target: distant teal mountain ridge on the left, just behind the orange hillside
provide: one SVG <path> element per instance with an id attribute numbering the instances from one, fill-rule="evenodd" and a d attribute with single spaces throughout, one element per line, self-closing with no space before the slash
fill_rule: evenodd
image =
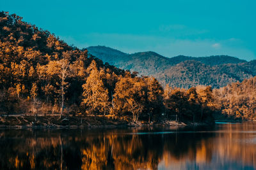
<path id="1" fill-rule="evenodd" d="M 90 46 L 88 53 L 121 69 L 138 71 L 142 75 L 153 75 L 172 66 L 168 58 L 155 52 L 127 54 L 106 46 Z M 149 74 L 148 74 L 149 73 Z"/>

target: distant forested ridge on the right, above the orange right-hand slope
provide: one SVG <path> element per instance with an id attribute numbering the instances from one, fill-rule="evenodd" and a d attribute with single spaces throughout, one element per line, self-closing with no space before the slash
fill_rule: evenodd
<path id="1" fill-rule="evenodd" d="M 195 60 L 186 60 L 154 76 L 161 83 L 169 83 L 172 87 L 189 89 L 196 85 L 211 85 L 214 88 L 225 87 L 229 83 L 241 82 L 255 75 L 255 60 L 218 66 L 205 65 Z"/>

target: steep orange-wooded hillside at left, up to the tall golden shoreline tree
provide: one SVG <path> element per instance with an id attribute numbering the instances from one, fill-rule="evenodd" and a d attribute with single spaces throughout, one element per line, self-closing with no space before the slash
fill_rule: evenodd
<path id="1" fill-rule="evenodd" d="M 112 75 L 104 81 L 110 95 L 114 87 L 109 82 L 124 76 L 124 70 L 89 57 L 87 50 L 68 46 L 22 17 L 0 11 L 1 114 L 63 113 L 70 106 L 77 110 L 92 63 L 101 74 Z"/>

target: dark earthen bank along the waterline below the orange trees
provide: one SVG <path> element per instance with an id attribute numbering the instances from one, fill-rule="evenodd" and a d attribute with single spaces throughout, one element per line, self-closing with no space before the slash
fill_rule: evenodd
<path id="1" fill-rule="evenodd" d="M 111 116 L 65 116 L 60 115 L 8 115 L 0 117 L 1 129 L 77 129 L 77 128 L 115 128 L 115 127 L 142 127 L 142 126 L 186 126 L 203 125 L 193 123 L 162 120 L 148 123 L 143 121 L 131 122 L 127 117 L 116 118 Z"/>

